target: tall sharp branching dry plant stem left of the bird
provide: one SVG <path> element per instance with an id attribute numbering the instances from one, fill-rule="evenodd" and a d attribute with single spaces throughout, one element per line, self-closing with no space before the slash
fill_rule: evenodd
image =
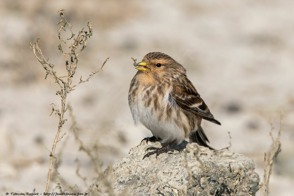
<path id="1" fill-rule="evenodd" d="M 70 93 L 71 91 L 73 91 L 74 87 L 76 87 L 78 84 L 88 81 L 95 73 L 97 73 L 99 71 L 102 71 L 103 70 L 102 68 L 103 68 L 104 64 L 109 59 L 109 57 L 108 57 L 104 61 L 102 67 L 98 71 L 92 72 L 92 74 L 89 75 L 89 77 L 85 81 L 82 81 L 81 78 L 80 78 L 80 82 L 78 82 L 77 84 L 75 84 L 74 86 L 71 87 L 72 77 L 74 76 L 74 74 L 76 72 L 77 64 L 78 64 L 78 61 L 79 61 L 78 56 L 80 55 L 81 51 L 83 51 L 86 48 L 87 40 L 88 40 L 88 38 L 90 38 L 90 36 L 93 35 L 93 30 L 92 30 L 91 21 L 89 21 L 88 24 L 87 24 L 88 31 L 85 31 L 84 29 L 82 29 L 81 31 L 78 32 L 78 34 L 76 36 L 76 34 L 73 33 L 74 30 L 72 28 L 73 27 L 72 24 L 70 24 L 66 20 L 65 14 L 62 11 L 64 11 L 64 9 L 58 11 L 59 15 L 61 16 L 61 20 L 57 24 L 57 25 L 60 25 L 60 29 L 58 29 L 58 38 L 60 40 L 60 43 L 58 45 L 58 49 L 64 56 L 65 67 L 66 67 L 66 70 L 68 72 L 67 76 L 58 76 L 56 74 L 56 71 L 54 71 L 54 65 L 52 63 L 48 62 L 49 58 L 46 59 L 44 57 L 41 49 L 38 46 L 38 42 L 39 42 L 40 38 L 38 38 L 36 40 L 36 42 L 34 42 L 34 43 L 29 41 L 29 46 L 30 46 L 30 48 L 33 48 L 35 57 L 41 63 L 41 65 L 43 66 L 43 68 L 46 71 L 45 79 L 47 78 L 48 75 L 53 76 L 53 78 L 55 80 L 55 83 L 57 83 L 58 86 L 60 87 L 60 90 L 56 91 L 56 95 L 59 95 L 60 98 L 61 98 L 61 108 L 56 109 L 55 105 L 51 104 L 51 107 L 52 107 L 51 114 L 55 111 L 55 114 L 59 117 L 59 124 L 58 124 L 58 130 L 57 130 L 57 133 L 55 135 L 54 142 L 53 142 L 52 150 L 51 150 L 51 153 L 50 153 L 49 172 L 48 172 L 48 178 L 47 178 L 47 184 L 46 184 L 45 192 L 49 191 L 49 185 L 50 185 L 50 180 L 51 180 L 51 172 L 52 172 L 52 165 L 53 165 L 53 161 L 54 161 L 54 157 L 55 157 L 56 143 L 58 141 L 60 141 L 61 138 L 63 138 L 63 136 L 66 134 L 66 133 L 64 133 L 59 138 L 61 128 L 62 128 L 63 124 L 67 120 L 67 119 L 64 119 L 64 113 L 67 110 L 67 108 L 66 108 L 67 94 Z M 63 40 L 60 33 L 61 33 L 61 30 L 66 31 L 66 29 L 65 29 L 66 26 L 69 26 L 69 30 L 71 31 L 71 37 L 67 38 L 67 40 L 73 41 L 73 43 L 71 43 L 71 46 L 69 46 L 70 52 L 65 52 L 64 49 L 62 48 L 62 44 L 66 43 L 66 42 Z"/>

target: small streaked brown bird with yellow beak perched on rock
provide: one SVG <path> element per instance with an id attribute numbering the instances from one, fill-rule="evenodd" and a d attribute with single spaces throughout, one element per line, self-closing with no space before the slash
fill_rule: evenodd
<path id="1" fill-rule="evenodd" d="M 186 69 L 170 56 L 161 52 L 146 54 L 137 63 L 138 72 L 131 81 L 128 104 L 135 124 L 142 123 L 151 131 L 162 148 L 154 150 L 145 157 L 174 151 L 169 148 L 173 143 L 181 143 L 189 138 L 192 142 L 211 148 L 203 129 L 201 120 L 219 124 L 209 111 L 196 88 L 186 76 Z M 142 141 L 143 141 L 142 140 Z M 213 149 L 213 148 L 211 148 Z"/>

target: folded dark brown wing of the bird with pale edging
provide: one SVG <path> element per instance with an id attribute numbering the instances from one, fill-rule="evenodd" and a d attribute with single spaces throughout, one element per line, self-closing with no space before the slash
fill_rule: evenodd
<path id="1" fill-rule="evenodd" d="M 214 119 L 207 105 L 187 77 L 185 77 L 185 80 L 173 86 L 171 96 L 184 110 L 189 110 L 196 115 L 202 116 L 206 120 L 220 125 L 220 122 Z"/>

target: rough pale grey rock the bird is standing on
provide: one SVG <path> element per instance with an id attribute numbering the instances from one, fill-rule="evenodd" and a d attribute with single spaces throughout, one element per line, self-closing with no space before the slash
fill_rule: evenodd
<path id="1" fill-rule="evenodd" d="M 181 153 L 142 160 L 151 146 L 161 144 L 144 141 L 128 157 L 108 165 L 87 190 L 89 195 L 255 195 L 260 187 L 253 160 L 244 155 L 184 141 L 176 147 Z"/>

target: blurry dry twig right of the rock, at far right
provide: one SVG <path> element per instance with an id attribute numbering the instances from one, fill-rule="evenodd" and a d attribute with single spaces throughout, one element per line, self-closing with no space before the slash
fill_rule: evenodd
<path id="1" fill-rule="evenodd" d="M 268 156 L 267 153 L 264 153 L 264 161 L 263 161 L 263 170 L 264 170 L 264 179 L 263 179 L 263 185 L 261 187 L 260 195 L 268 196 L 269 195 L 269 181 L 270 181 L 270 175 L 273 172 L 273 164 L 275 163 L 275 160 L 278 156 L 278 154 L 281 151 L 281 130 L 282 130 L 282 122 L 283 120 L 283 113 L 280 115 L 280 126 L 278 128 L 278 137 L 274 138 L 273 136 L 273 124 L 270 122 L 271 130 L 270 130 L 270 137 L 272 139 L 272 145 L 271 145 L 271 151 L 270 155 Z"/>

